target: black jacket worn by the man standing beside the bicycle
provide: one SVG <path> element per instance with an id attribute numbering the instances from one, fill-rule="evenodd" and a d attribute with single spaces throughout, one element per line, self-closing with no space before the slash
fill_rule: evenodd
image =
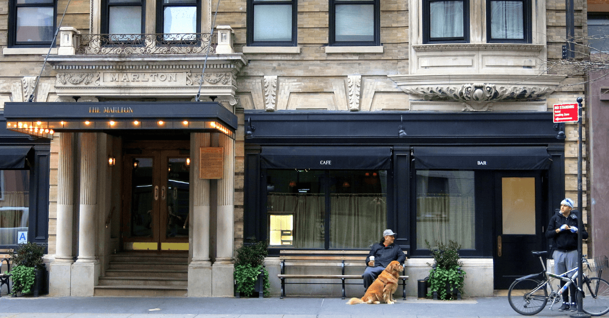
<path id="1" fill-rule="evenodd" d="M 560 210 L 552 215 L 550 218 L 550 224 L 547 226 L 546 237 L 549 239 L 554 239 L 554 244 L 552 244 L 552 251 L 573 251 L 577 249 L 577 233 L 572 233 L 570 230 L 563 230 L 559 233 L 556 233 L 556 229 L 561 227 L 563 224 L 567 224 L 569 227 L 574 226 L 577 227 L 577 210 L 571 210 L 571 214 L 565 218 L 563 213 L 560 213 Z M 586 229 L 577 230 L 582 231 L 582 238 L 586 240 L 588 238 L 588 232 Z"/>

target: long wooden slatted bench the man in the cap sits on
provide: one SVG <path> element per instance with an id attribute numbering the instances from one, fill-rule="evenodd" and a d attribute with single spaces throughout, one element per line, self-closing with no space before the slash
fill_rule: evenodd
<path id="1" fill-rule="evenodd" d="M 345 266 L 365 266 L 366 257 L 370 251 L 315 251 L 315 250 L 281 250 L 281 296 L 286 296 L 286 284 L 329 284 L 342 285 L 342 299 L 345 299 L 345 285 L 364 285 L 362 275 L 345 275 Z M 287 266 L 340 266 L 340 275 L 336 274 L 286 274 Z M 362 274 L 364 274 L 362 270 Z M 340 279 L 340 283 L 319 282 L 286 282 L 286 279 Z M 345 283 L 345 280 L 359 279 L 362 283 Z M 402 292 L 406 300 L 406 269 L 400 275 Z"/>

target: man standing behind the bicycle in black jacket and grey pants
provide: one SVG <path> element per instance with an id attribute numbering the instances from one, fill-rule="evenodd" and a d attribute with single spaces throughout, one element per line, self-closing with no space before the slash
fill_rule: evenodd
<path id="1" fill-rule="evenodd" d="M 586 229 L 577 229 L 577 210 L 573 209 L 573 200 L 565 198 L 560 202 L 560 211 L 550 219 L 550 224 L 547 226 L 546 237 L 554 239 L 552 245 L 552 257 L 554 258 L 554 273 L 562 274 L 572 268 L 577 267 L 577 231 L 582 231 L 582 238 L 588 238 Z M 551 252 L 552 252 L 551 251 Z M 565 282 L 560 281 L 560 287 L 565 286 Z M 569 286 L 569 294 L 571 294 L 571 304 L 569 304 L 569 295 L 563 292 L 563 305 L 558 311 L 576 311 L 577 312 L 577 285 Z"/>

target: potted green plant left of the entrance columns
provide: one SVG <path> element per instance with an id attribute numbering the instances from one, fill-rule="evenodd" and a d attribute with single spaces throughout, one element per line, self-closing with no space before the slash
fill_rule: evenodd
<path id="1" fill-rule="evenodd" d="M 32 242 L 19 244 L 18 249 L 15 249 L 13 252 L 15 267 L 10 271 L 13 278 L 13 297 L 16 297 L 17 293 L 33 294 L 34 297 L 38 297 L 46 278 L 43 255 L 44 246 Z"/>

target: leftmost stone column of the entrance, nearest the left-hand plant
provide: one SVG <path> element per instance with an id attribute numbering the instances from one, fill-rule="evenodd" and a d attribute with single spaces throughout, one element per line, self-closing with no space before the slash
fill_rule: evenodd
<path id="1" fill-rule="evenodd" d="M 70 295 L 72 255 L 72 212 L 74 211 L 74 133 L 59 136 L 57 167 L 57 251 L 49 271 L 49 294 Z"/>

